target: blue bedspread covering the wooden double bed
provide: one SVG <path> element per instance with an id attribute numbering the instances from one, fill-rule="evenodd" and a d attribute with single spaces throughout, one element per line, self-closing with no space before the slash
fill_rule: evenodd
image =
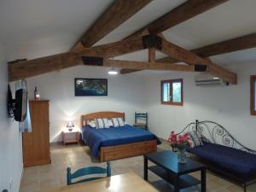
<path id="1" fill-rule="evenodd" d="M 82 139 L 90 147 L 94 157 L 98 157 L 98 151 L 101 147 L 145 142 L 154 139 L 157 139 L 157 143 L 160 144 L 158 137 L 150 131 L 138 129 L 131 125 L 97 130 L 86 125 L 82 130 Z"/>

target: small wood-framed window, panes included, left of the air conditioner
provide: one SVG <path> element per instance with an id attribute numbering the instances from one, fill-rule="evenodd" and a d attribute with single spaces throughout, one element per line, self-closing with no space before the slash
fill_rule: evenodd
<path id="1" fill-rule="evenodd" d="M 161 103 L 183 105 L 183 79 L 161 81 Z"/>

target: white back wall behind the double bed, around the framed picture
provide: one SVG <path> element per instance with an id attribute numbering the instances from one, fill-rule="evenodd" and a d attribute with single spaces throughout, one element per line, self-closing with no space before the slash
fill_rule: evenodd
<path id="1" fill-rule="evenodd" d="M 74 96 L 75 78 L 108 79 L 108 96 Z M 50 100 L 50 142 L 61 141 L 61 131 L 72 120 L 80 126 L 80 115 L 97 111 L 125 112 L 126 121 L 134 122 L 134 112 L 144 109 L 143 79 L 132 75 L 108 75 L 106 67 L 73 67 L 27 79 L 29 97 L 34 87 L 42 98 Z"/>

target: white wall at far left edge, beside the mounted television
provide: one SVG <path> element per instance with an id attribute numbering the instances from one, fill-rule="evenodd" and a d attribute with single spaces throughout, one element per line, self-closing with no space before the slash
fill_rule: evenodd
<path id="1" fill-rule="evenodd" d="M 0 191 L 9 189 L 10 192 L 18 192 L 23 167 L 21 135 L 18 124 L 7 118 L 7 87 L 7 63 L 0 44 Z"/>

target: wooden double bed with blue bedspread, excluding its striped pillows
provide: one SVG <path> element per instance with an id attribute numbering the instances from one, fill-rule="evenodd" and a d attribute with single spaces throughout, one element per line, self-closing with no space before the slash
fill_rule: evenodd
<path id="1" fill-rule="evenodd" d="M 160 140 L 150 131 L 131 125 L 98 130 L 87 125 L 88 121 L 93 119 L 116 117 L 125 120 L 125 113 L 108 111 L 81 116 L 82 140 L 90 147 L 91 154 L 95 158 L 106 162 L 156 151 Z"/>

